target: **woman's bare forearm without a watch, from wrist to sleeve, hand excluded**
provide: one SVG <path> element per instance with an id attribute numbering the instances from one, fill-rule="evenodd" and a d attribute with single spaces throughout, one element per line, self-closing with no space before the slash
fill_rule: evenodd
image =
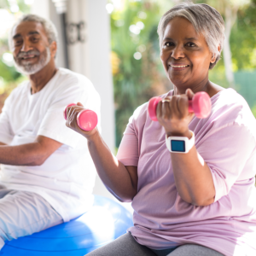
<path id="1" fill-rule="evenodd" d="M 131 201 L 137 194 L 137 167 L 119 162 L 98 131 L 87 139 L 96 171 L 108 191 L 119 201 Z"/>

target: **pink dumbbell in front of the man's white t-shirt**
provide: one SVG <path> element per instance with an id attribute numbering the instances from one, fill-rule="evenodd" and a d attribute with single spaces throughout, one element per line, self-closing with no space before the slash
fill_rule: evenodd
<path id="1" fill-rule="evenodd" d="M 71 103 L 68 104 L 67 107 L 70 106 L 76 106 L 77 104 Z M 67 107 L 64 110 L 64 118 L 67 120 Z M 90 109 L 84 109 L 79 112 L 77 116 L 77 124 L 79 127 L 84 131 L 91 131 L 93 130 L 98 123 L 98 117 L 97 114 L 90 110 Z"/>

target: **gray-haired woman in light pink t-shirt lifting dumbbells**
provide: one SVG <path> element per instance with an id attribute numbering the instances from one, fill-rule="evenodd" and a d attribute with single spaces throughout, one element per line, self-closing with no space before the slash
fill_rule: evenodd
<path id="1" fill-rule="evenodd" d="M 235 90 L 208 79 L 224 20 L 207 4 L 183 3 L 163 15 L 158 32 L 174 84 L 161 96 L 159 122 L 149 118 L 148 103 L 137 108 L 114 157 L 97 129 L 79 129 L 82 105 L 68 108 L 67 126 L 87 138 L 103 183 L 134 209 L 127 234 L 88 255 L 256 255 L 255 119 Z M 211 97 L 206 119 L 188 111 L 199 91 Z M 170 152 L 168 137 L 188 138 L 188 152 Z"/>

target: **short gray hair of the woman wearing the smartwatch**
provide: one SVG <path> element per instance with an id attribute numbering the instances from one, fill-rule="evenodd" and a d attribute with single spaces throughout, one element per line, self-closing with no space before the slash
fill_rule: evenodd
<path id="1" fill-rule="evenodd" d="M 205 3 L 180 3 L 169 9 L 161 18 L 158 25 L 160 46 L 162 44 L 166 26 L 175 17 L 183 17 L 191 22 L 197 33 L 202 33 L 207 45 L 216 57 L 214 63 L 210 63 L 212 69 L 220 59 L 220 53 L 224 45 L 224 20 L 218 11 Z M 220 51 L 218 51 L 220 46 Z"/>

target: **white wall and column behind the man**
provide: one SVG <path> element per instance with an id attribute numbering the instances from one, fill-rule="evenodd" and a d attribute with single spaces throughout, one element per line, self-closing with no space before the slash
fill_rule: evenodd
<path id="1" fill-rule="evenodd" d="M 69 67 L 87 76 L 102 99 L 102 137 L 108 147 L 114 150 L 114 108 L 113 81 L 110 65 L 110 20 L 106 10 L 107 0 L 68 0 L 67 22 L 85 22 L 85 42 L 68 46 Z M 35 0 L 32 13 L 52 20 L 60 38 L 56 62 L 63 67 L 64 48 L 61 19 L 51 0 Z M 96 177 L 94 194 L 113 196 Z"/>

